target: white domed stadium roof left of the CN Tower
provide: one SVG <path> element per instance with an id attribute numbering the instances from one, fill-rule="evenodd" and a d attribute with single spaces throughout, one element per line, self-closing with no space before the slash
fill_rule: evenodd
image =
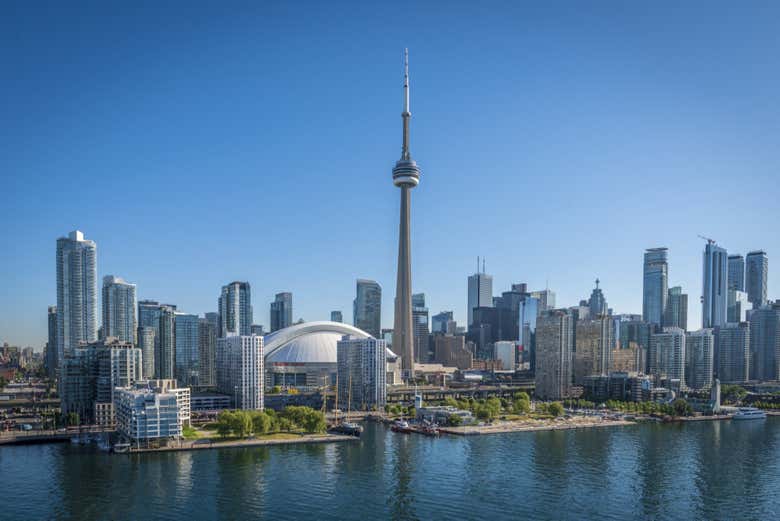
<path id="1" fill-rule="evenodd" d="M 340 322 L 304 322 L 269 333 L 263 338 L 266 364 L 335 364 L 336 343 L 344 335 L 368 338 L 356 327 Z"/>

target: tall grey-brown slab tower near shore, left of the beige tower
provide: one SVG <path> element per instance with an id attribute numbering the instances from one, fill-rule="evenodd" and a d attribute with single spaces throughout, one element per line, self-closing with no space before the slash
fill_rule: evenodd
<path id="1" fill-rule="evenodd" d="M 560 400 L 571 394 L 574 324 L 564 311 L 544 312 L 536 322 L 536 395 Z"/>

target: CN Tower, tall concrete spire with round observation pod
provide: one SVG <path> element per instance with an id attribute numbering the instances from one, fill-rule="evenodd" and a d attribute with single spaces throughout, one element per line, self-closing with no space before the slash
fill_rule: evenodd
<path id="1" fill-rule="evenodd" d="M 409 207 L 411 189 L 420 182 L 420 169 L 409 153 L 409 50 L 404 49 L 404 111 L 401 159 L 393 168 L 393 184 L 401 189 L 401 223 L 398 228 L 398 281 L 395 288 L 395 323 L 393 324 L 393 351 L 401 357 L 403 378 L 414 378 L 414 350 L 412 349 L 412 262 L 409 237 Z"/>

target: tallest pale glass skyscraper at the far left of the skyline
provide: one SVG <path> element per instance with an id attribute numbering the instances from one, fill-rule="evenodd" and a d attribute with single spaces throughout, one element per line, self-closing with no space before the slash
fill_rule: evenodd
<path id="1" fill-rule="evenodd" d="M 97 246 L 76 230 L 57 239 L 57 360 L 97 340 Z"/>

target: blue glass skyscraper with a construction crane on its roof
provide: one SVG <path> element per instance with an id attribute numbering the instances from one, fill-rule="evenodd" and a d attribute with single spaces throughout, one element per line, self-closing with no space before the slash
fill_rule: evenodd
<path id="1" fill-rule="evenodd" d="M 725 248 L 707 239 L 703 260 L 702 328 L 720 327 L 726 324 L 728 307 L 728 254 Z"/>

